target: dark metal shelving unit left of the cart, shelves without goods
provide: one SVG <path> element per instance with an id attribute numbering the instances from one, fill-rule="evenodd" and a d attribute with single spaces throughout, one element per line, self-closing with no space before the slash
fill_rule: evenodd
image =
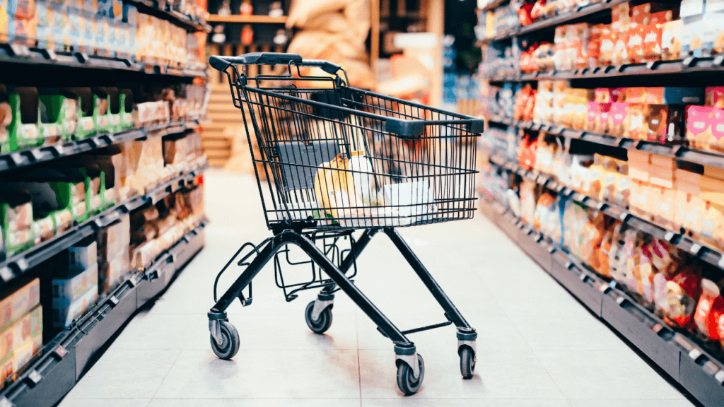
<path id="1" fill-rule="evenodd" d="M 164 1 L 124 0 L 133 4 L 138 12 L 151 14 L 188 31 L 209 32 L 205 21 L 172 9 Z M 163 62 L 139 62 L 132 57 L 103 57 L 79 52 L 56 53 L 19 44 L 0 43 L 0 66 L 11 73 L 18 83 L 32 86 L 48 85 L 54 80 L 77 83 L 98 83 L 103 80 L 161 83 L 190 83 L 195 78 L 206 80 L 206 64 L 187 66 L 165 65 Z M 59 78 L 59 79 L 58 79 Z M 86 82 L 84 82 L 86 81 Z M 49 164 L 75 154 L 82 154 L 111 146 L 126 140 L 177 135 L 195 130 L 205 122 L 202 117 L 184 119 L 127 130 L 119 133 L 98 133 L 88 138 L 63 141 L 22 151 L 0 152 L 0 177 L 12 179 L 15 171 Z M 206 164 L 182 172 L 166 182 L 146 188 L 145 193 L 132 196 L 109 209 L 95 214 L 69 230 L 59 232 L 27 251 L 16 253 L 0 261 L 0 290 L 14 284 L 18 277 L 31 272 L 43 262 L 70 248 L 83 238 L 93 235 L 124 214 L 143 209 L 182 188 L 196 185 Z M 75 386 L 106 342 L 115 335 L 135 311 L 165 290 L 172 277 L 203 248 L 203 219 L 169 249 L 161 253 L 146 269 L 133 270 L 130 277 L 106 297 L 100 298 L 83 317 L 49 340 L 44 338 L 42 351 L 23 366 L 12 382 L 0 390 L 1 407 L 50 407 L 61 400 Z"/>

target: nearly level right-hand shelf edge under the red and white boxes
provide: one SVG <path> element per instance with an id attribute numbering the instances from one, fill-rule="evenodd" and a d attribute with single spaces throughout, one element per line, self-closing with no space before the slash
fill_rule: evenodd
<path id="1" fill-rule="evenodd" d="M 675 59 L 640 64 L 620 64 L 610 67 L 584 68 L 581 70 L 540 71 L 518 75 L 495 75 L 487 78 L 490 82 L 526 82 L 534 80 L 597 79 L 602 77 L 623 77 L 636 75 L 696 75 L 699 73 L 724 72 L 724 56 Z"/>

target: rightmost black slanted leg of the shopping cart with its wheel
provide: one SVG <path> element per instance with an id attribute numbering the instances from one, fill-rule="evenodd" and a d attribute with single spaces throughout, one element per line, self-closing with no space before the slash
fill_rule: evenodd
<path id="1" fill-rule="evenodd" d="M 475 330 L 473 330 L 473 328 L 468 324 L 465 318 L 463 318 L 463 315 L 460 314 L 460 311 L 455 308 L 455 304 L 450 301 L 450 298 L 447 298 L 445 292 L 442 291 L 442 288 L 432 278 L 430 272 L 427 271 L 420 259 L 418 259 L 415 253 L 413 253 L 410 246 L 405 243 L 405 240 L 403 240 L 402 236 L 397 233 L 397 230 L 392 227 L 387 227 L 384 229 L 384 232 L 387 234 L 387 236 L 390 237 L 392 243 L 395 243 L 395 246 L 397 246 L 397 250 L 399 250 L 400 253 L 403 253 L 403 256 L 405 256 L 405 259 L 415 270 L 418 277 L 420 277 L 420 280 L 424 282 L 427 289 L 430 290 L 430 293 L 432 293 L 432 296 L 434 296 L 434 298 L 437 300 L 437 303 L 439 303 L 440 306 L 442 306 L 442 309 L 445 310 L 445 315 L 447 316 L 447 318 L 449 318 L 450 321 L 455 324 L 455 327 L 458 327 L 458 354 L 461 358 L 460 370 L 463 371 L 463 377 L 472 377 L 472 370 L 475 367 L 475 340 L 478 337 L 477 332 L 475 332 Z M 462 358 L 466 358 L 467 360 L 463 361 Z M 463 366 L 463 364 L 465 364 L 466 366 Z"/>

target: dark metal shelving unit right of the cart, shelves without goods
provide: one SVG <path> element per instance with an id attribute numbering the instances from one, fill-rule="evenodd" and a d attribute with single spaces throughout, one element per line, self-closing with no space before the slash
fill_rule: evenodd
<path id="1" fill-rule="evenodd" d="M 498 33 L 492 38 L 479 41 L 484 46 L 492 41 L 516 41 L 525 35 L 534 37 L 550 35 L 559 25 L 576 22 L 599 22 L 605 14 L 617 4 L 626 0 L 600 1 L 578 7 L 571 13 L 534 22 L 515 30 Z M 585 68 L 578 70 L 548 70 L 542 72 L 514 72 L 505 75 L 494 74 L 484 78 L 492 83 L 536 82 L 538 80 L 574 80 L 576 87 L 621 87 L 621 86 L 662 86 L 674 81 L 677 86 L 702 86 L 719 83 L 724 72 L 724 56 L 694 58 L 687 57 L 669 61 L 646 62 L 639 64 L 618 64 L 607 67 Z M 579 86 L 578 86 L 579 85 Z M 535 84 L 534 84 L 535 86 Z M 524 122 L 510 117 L 487 117 L 490 125 L 513 126 L 519 129 L 542 131 L 550 135 L 565 138 L 565 146 L 571 140 L 593 143 L 593 146 L 621 148 L 626 151 L 643 151 L 675 159 L 677 167 L 691 169 L 698 165 L 724 168 L 724 154 L 715 151 L 702 151 L 685 145 L 667 145 L 646 140 L 634 140 L 615 135 L 576 130 L 570 127 L 541 122 Z M 641 230 L 667 240 L 679 249 L 706 262 L 724 273 L 724 251 L 696 238 L 691 238 L 686 230 L 678 230 L 670 225 L 653 220 L 644 214 L 634 214 L 610 202 L 599 201 L 572 190 L 568 185 L 558 182 L 552 175 L 529 171 L 515 162 L 506 161 L 497 156 L 489 157 L 497 167 L 508 169 L 526 180 L 555 193 L 570 197 L 585 206 L 593 207 L 619 219 L 636 230 Z M 600 277 L 586 264 L 573 259 L 563 249 L 552 242 L 539 230 L 524 225 L 510 211 L 505 211 L 497 203 L 483 203 L 481 209 L 493 220 L 523 251 L 531 256 L 543 269 L 567 288 L 592 313 L 610 327 L 620 332 L 636 348 L 646 354 L 652 362 L 667 372 L 704 406 L 724 405 L 724 358 L 717 349 L 711 348 L 686 330 L 669 327 L 652 311 L 629 295 L 626 288 L 615 281 Z"/>

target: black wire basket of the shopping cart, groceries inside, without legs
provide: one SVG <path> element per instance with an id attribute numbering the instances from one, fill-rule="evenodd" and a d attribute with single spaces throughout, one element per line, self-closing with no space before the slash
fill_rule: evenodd
<path id="1" fill-rule="evenodd" d="M 473 217 L 479 135 L 455 123 L 469 117 L 346 87 L 239 88 L 261 155 L 253 159 L 266 172 L 268 193 L 257 179 L 269 228 L 292 221 L 321 230 L 399 227 Z M 397 135 L 385 117 L 424 120 L 424 130 Z"/>

